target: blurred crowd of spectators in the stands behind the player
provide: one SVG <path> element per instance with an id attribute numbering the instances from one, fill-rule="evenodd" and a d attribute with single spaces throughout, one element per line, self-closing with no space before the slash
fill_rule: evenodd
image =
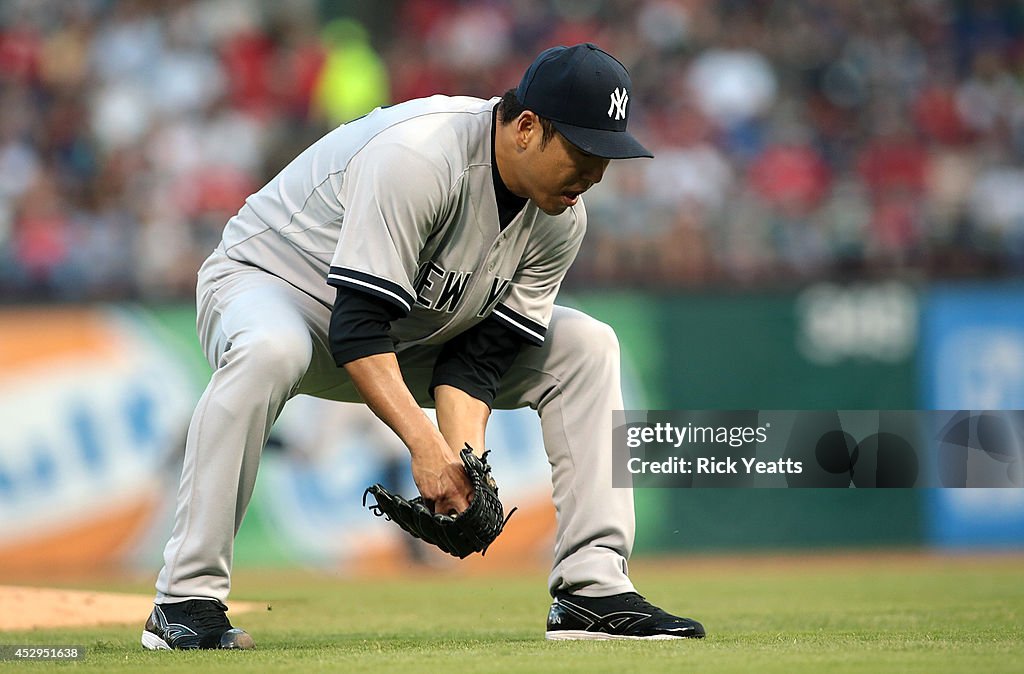
<path id="1" fill-rule="evenodd" d="M 630 69 L 656 158 L 588 194 L 568 285 L 1024 271 L 1024 9 L 996 0 L 4 0 L 0 299 L 164 299 L 328 129 Z"/>

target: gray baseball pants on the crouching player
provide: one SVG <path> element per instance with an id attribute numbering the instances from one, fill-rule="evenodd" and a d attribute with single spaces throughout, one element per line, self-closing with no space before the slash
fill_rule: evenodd
<path id="1" fill-rule="evenodd" d="M 200 270 L 197 305 L 200 342 L 214 372 L 188 427 L 157 603 L 226 599 L 234 535 L 270 427 L 289 398 L 360 401 L 331 355 L 330 308 L 306 293 L 217 252 Z M 398 353 L 424 407 L 432 405 L 427 387 L 439 350 Z M 529 406 L 541 417 L 558 520 L 552 593 L 633 591 L 626 564 L 633 492 L 611 487 L 611 410 L 623 408 L 618 359 L 608 326 L 556 306 L 544 345 L 522 349 L 495 402 L 496 409 Z"/>

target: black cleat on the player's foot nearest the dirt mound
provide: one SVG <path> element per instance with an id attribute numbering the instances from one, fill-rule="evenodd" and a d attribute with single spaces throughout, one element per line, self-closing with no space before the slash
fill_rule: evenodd
<path id="1" fill-rule="evenodd" d="M 231 627 L 226 610 L 216 599 L 156 604 L 145 621 L 142 646 L 150 650 L 255 647 L 248 632 Z"/>

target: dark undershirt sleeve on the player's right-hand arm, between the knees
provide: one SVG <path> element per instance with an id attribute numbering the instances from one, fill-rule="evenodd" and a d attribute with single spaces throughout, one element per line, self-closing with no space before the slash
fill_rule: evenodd
<path id="1" fill-rule="evenodd" d="M 450 340 L 434 364 L 430 395 L 440 384 L 494 407 L 498 383 L 525 342 L 493 315 Z"/>

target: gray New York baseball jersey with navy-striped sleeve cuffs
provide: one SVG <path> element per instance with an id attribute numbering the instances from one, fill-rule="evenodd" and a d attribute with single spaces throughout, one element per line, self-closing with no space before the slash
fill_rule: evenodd
<path id="1" fill-rule="evenodd" d="M 327 305 L 328 284 L 392 302 L 407 314 L 392 324 L 399 351 L 492 311 L 542 343 L 587 217 L 582 200 L 557 216 L 530 202 L 499 230 L 497 102 L 438 95 L 338 127 L 246 201 L 224 252 Z"/>

